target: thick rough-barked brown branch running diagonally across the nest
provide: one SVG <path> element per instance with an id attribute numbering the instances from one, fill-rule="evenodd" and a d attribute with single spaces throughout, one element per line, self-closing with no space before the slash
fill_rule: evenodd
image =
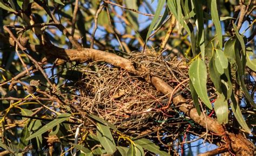
<path id="1" fill-rule="evenodd" d="M 15 46 L 15 41 L 12 38 L 6 37 L 1 33 L 0 40 L 10 44 L 11 46 Z M 130 60 L 114 55 L 113 53 L 86 48 L 78 50 L 62 49 L 53 45 L 41 46 L 26 44 L 26 48 L 34 52 L 45 53 L 48 57 L 60 58 L 66 61 L 85 62 L 87 60 L 102 60 L 114 66 L 125 69 L 133 74 L 144 77 L 147 82 L 155 86 L 156 89 L 161 93 L 170 95 L 170 93 L 173 91 L 173 88 L 164 82 L 164 80 L 151 76 L 149 69 L 146 69 L 145 66 L 138 63 L 133 63 Z M 241 133 L 234 134 L 225 132 L 225 128 L 220 125 L 216 119 L 208 116 L 205 118 L 203 113 L 201 113 L 199 116 L 196 108 L 189 105 L 182 96 L 173 98 L 173 103 L 174 105 L 179 106 L 179 110 L 186 113 L 186 115 L 194 122 L 223 138 L 228 146 L 228 148 L 225 149 L 229 149 L 237 155 L 253 155 L 254 145 L 251 143 L 251 141 L 243 137 Z M 222 152 L 227 152 L 227 150 L 223 150 Z"/>

